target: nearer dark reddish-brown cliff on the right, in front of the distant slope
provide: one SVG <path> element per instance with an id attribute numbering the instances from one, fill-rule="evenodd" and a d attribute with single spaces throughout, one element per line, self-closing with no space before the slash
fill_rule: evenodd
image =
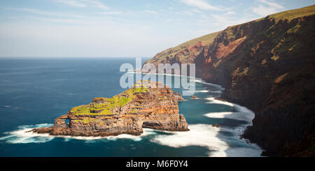
<path id="1" fill-rule="evenodd" d="M 223 99 L 255 112 L 244 137 L 267 156 L 314 156 L 314 26 L 315 6 L 269 15 L 221 31 L 193 61 Z"/>

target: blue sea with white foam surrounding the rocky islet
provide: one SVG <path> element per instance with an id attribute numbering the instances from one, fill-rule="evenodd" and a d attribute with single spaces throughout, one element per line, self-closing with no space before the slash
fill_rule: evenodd
<path id="1" fill-rule="evenodd" d="M 140 136 L 117 137 L 27 133 L 51 126 L 73 106 L 124 91 L 119 84 L 125 74 L 119 71 L 123 63 L 135 64 L 135 59 L 0 58 L 0 156 L 260 156 L 260 147 L 239 138 L 252 124 L 253 112 L 215 100 L 223 88 L 202 80 L 195 80 L 195 96 L 200 99 L 184 96 L 179 102 L 187 132 L 145 128 Z"/>

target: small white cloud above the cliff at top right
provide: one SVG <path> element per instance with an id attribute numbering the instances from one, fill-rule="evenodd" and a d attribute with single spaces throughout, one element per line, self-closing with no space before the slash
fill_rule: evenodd
<path id="1" fill-rule="evenodd" d="M 260 5 L 258 7 L 253 8 L 253 12 L 258 15 L 266 16 L 273 13 L 278 13 L 284 9 L 283 6 L 272 1 L 267 1 L 267 0 L 258 0 L 258 1 Z"/>

